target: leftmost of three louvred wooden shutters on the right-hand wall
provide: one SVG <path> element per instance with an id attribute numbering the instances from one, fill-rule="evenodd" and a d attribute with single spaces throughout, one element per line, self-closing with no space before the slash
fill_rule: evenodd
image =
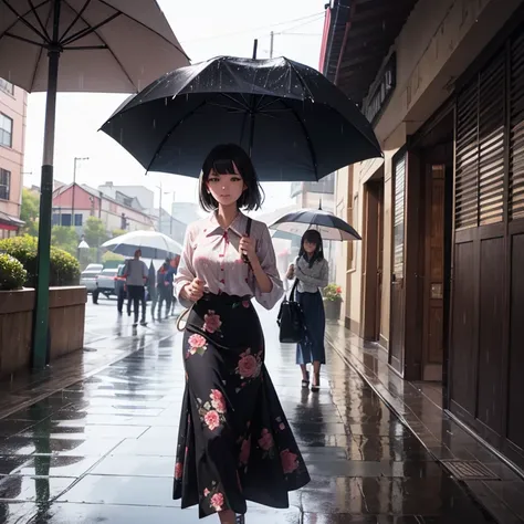
<path id="1" fill-rule="evenodd" d="M 479 84 L 457 101 L 455 227 L 474 228 L 479 217 Z"/>

